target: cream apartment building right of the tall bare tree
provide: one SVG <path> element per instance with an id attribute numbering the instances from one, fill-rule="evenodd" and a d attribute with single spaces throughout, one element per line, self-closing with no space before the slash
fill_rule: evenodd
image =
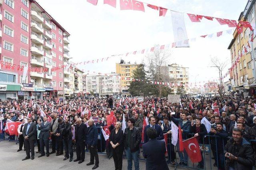
<path id="1" fill-rule="evenodd" d="M 186 92 L 189 92 L 189 88 L 186 87 L 189 81 L 189 68 L 183 67 L 182 65 L 178 65 L 176 63 L 168 65 L 169 76 L 174 83 L 178 85 L 183 85 L 185 87 Z M 173 92 L 176 93 L 177 88 L 172 88 Z"/>

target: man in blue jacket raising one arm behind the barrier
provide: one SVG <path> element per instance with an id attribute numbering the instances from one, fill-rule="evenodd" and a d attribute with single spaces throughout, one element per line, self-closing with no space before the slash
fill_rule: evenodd
<path id="1" fill-rule="evenodd" d="M 174 117 L 171 116 L 171 121 L 173 121 L 177 126 L 180 125 L 181 127 L 181 132 L 182 132 L 182 140 L 186 140 L 187 136 L 186 134 L 189 133 L 189 128 L 191 126 L 191 122 L 188 121 L 188 114 L 187 113 L 182 113 L 181 114 L 181 119 L 176 119 Z M 179 138 L 178 138 L 179 139 Z M 178 145 L 177 148 L 179 148 L 179 141 L 177 142 Z M 184 153 L 184 155 L 183 155 Z M 186 152 L 186 150 L 183 150 L 183 152 L 178 151 L 178 154 L 180 156 L 180 165 L 183 166 L 188 166 L 188 154 Z"/>

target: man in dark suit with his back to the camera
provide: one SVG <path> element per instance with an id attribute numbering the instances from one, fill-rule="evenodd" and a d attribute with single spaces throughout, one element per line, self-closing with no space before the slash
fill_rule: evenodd
<path id="1" fill-rule="evenodd" d="M 150 140 L 142 145 L 143 156 L 146 158 L 146 170 L 169 170 L 165 160 L 166 146 L 163 140 L 157 140 L 157 132 L 153 127 L 147 128 Z"/>

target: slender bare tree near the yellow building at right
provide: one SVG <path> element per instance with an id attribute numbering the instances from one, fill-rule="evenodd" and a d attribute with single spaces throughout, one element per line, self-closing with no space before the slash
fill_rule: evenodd
<path id="1" fill-rule="evenodd" d="M 218 59 L 217 57 L 211 57 L 211 63 L 214 65 L 214 66 L 211 66 L 211 67 L 216 67 L 219 70 L 220 84 L 218 86 L 219 87 L 218 92 L 219 92 L 220 97 L 222 98 L 222 96 L 223 96 L 223 89 L 224 89 L 223 80 L 222 80 L 222 71 L 227 66 L 228 62 L 227 62 L 227 60 L 220 61 L 220 59 Z"/>

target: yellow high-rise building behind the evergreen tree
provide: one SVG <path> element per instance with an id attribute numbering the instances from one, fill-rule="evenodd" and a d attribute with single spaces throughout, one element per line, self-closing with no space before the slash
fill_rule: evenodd
<path id="1" fill-rule="evenodd" d="M 137 63 L 116 63 L 116 73 L 121 75 L 121 92 L 123 96 L 130 95 L 128 92 L 128 85 L 130 85 L 133 78 L 133 71 L 139 66 Z"/>

